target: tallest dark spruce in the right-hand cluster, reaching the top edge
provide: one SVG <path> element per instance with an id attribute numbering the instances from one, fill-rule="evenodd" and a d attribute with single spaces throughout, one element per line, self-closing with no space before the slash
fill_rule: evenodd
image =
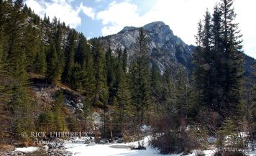
<path id="1" fill-rule="evenodd" d="M 244 58 L 242 57 L 242 40 L 239 35 L 238 24 L 234 22 L 236 14 L 233 7 L 234 0 L 221 0 L 222 12 L 222 44 L 221 79 L 225 116 L 237 116 L 237 108 L 241 104 L 241 86 Z"/>

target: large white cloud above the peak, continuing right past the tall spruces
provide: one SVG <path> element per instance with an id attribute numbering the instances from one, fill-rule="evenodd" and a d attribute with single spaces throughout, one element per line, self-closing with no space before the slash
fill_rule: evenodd
<path id="1" fill-rule="evenodd" d="M 219 0 L 155 0 L 148 12 L 140 14 L 139 6 L 132 1 L 114 1 L 104 11 L 98 12 L 96 19 L 100 19 L 104 26 L 101 29 L 102 35 L 114 34 L 125 26 L 141 27 L 150 22 L 163 21 L 184 42 L 195 45 L 194 35 L 199 19 L 204 17 L 206 8 L 212 12 L 217 2 Z M 239 28 L 244 35 L 244 50 L 256 58 L 256 52 L 252 54 L 256 45 L 256 34 L 252 33 L 256 32 L 256 21 L 248 18 L 256 14 L 256 1 L 236 0 L 234 6 Z"/>

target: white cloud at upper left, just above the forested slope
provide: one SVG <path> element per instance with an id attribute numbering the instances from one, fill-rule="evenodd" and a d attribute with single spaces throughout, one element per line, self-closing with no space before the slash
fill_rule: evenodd
<path id="1" fill-rule="evenodd" d="M 60 19 L 60 22 L 65 22 L 65 24 L 73 28 L 81 24 L 81 17 L 79 17 L 80 12 L 94 19 L 95 13 L 92 8 L 84 6 L 82 3 L 77 9 L 73 8 L 71 5 L 72 1 L 73 0 L 52 0 L 46 2 L 44 0 L 27 0 L 25 3 L 27 6 L 31 7 L 36 14 L 39 14 L 40 17 L 44 17 L 46 13 L 50 19 L 57 17 Z"/>

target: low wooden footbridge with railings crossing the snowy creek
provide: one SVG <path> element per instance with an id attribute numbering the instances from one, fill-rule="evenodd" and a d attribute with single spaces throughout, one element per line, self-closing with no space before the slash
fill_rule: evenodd
<path id="1" fill-rule="evenodd" d="M 14 132 L 0 131 L 0 142 L 8 138 L 24 138 L 33 137 L 45 138 L 45 137 L 95 137 L 97 138 L 113 138 L 113 137 L 123 137 L 123 132 L 129 131 L 130 134 L 135 132 L 134 124 L 127 123 L 65 123 L 61 124 L 61 132 L 56 132 L 57 124 L 55 123 L 41 123 L 37 129 L 32 130 L 34 126 L 30 125 L 29 134 L 24 136 L 24 133 L 17 134 Z M 71 129 L 66 127 L 73 126 L 75 130 L 72 132 Z M 30 134 L 31 132 L 31 134 Z"/>

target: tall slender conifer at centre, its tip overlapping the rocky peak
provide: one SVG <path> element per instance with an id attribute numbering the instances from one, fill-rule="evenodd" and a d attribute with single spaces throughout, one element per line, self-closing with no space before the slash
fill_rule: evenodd
<path id="1" fill-rule="evenodd" d="M 140 124 L 144 121 L 144 114 L 149 105 L 150 93 L 150 65 L 149 54 L 147 51 L 147 39 L 142 28 L 140 35 L 137 37 L 137 45 L 135 52 L 135 62 L 132 64 L 132 104 L 137 109 L 137 120 Z"/>

